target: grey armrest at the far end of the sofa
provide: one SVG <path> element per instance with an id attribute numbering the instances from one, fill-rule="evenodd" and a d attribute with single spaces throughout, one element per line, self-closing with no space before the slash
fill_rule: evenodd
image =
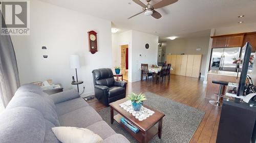
<path id="1" fill-rule="evenodd" d="M 50 95 L 50 98 L 53 100 L 54 104 L 58 104 L 79 97 L 79 93 L 74 89 Z"/>

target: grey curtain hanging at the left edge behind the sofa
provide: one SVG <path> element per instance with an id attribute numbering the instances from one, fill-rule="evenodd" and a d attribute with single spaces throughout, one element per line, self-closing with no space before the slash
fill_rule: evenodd
<path id="1" fill-rule="evenodd" d="M 6 27 L 1 11 L 0 17 L 2 27 Z M 0 96 L 4 107 L 10 102 L 18 87 L 18 68 L 11 37 L 0 34 Z"/>

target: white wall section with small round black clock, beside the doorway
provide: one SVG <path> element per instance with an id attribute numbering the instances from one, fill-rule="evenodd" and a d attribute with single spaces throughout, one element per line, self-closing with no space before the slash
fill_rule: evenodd
<path id="1" fill-rule="evenodd" d="M 140 80 L 140 66 L 157 64 L 158 36 L 130 30 L 112 34 L 113 61 L 115 66 L 121 64 L 120 45 L 129 45 L 129 82 Z M 148 43 L 150 48 L 146 49 Z M 116 53 L 116 54 L 114 54 Z M 141 54 L 141 56 L 139 56 Z"/>

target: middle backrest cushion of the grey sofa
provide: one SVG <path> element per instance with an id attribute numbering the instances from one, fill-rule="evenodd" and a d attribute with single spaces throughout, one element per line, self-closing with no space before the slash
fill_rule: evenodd
<path id="1" fill-rule="evenodd" d="M 36 93 L 16 92 L 6 109 L 15 107 L 34 108 L 40 111 L 45 119 L 52 122 L 55 126 L 59 126 L 58 116 L 54 108 Z"/>

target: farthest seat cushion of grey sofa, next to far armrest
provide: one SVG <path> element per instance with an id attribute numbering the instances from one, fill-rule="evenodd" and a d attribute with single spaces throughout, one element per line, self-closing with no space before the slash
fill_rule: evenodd
<path id="1" fill-rule="evenodd" d="M 63 115 L 65 113 L 77 110 L 81 107 L 89 106 L 89 104 L 82 98 L 75 98 L 66 102 L 61 102 L 55 105 L 57 115 Z"/>

